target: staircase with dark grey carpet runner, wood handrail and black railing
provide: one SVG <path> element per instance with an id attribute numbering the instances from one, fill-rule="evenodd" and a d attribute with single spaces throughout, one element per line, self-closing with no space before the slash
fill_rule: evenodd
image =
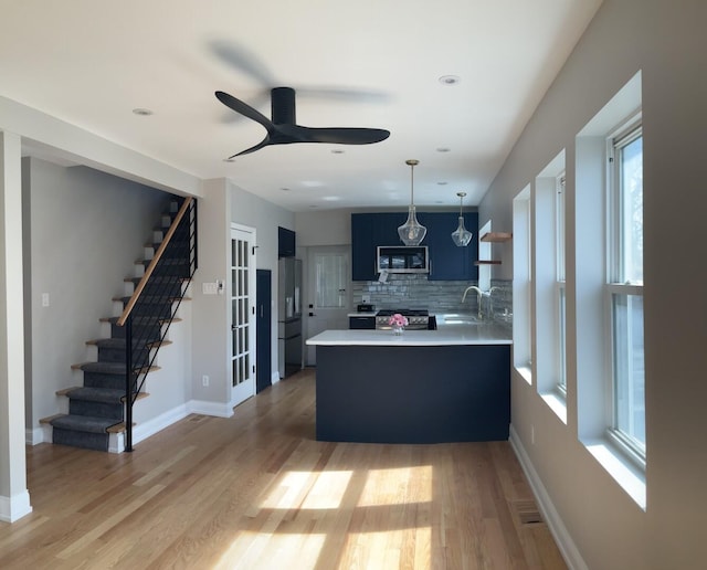
<path id="1" fill-rule="evenodd" d="M 83 371 L 83 387 L 60 390 L 68 399 L 68 413 L 40 420 L 52 426 L 52 442 L 98 451 L 123 451 L 125 435 L 131 451 L 133 405 L 146 398 L 145 380 L 197 268 L 197 202 L 173 199 L 154 230 L 146 258 L 136 262 L 136 277 L 125 279 L 131 294 L 115 297 L 120 316 L 102 318 L 110 337 L 88 340 L 97 361 L 74 365 Z M 130 347 L 130 350 L 128 350 Z M 113 443 L 112 443 L 113 441 Z"/>

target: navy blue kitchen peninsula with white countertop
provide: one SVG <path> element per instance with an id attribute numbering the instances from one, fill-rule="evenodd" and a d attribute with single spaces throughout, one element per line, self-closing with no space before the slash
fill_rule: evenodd
<path id="1" fill-rule="evenodd" d="M 317 440 L 507 440 L 510 344 L 493 324 L 325 330 L 307 340 L 317 350 Z"/>

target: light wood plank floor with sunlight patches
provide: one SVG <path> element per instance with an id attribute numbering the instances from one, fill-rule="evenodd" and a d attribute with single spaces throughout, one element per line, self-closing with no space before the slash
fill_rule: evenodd
<path id="1" fill-rule="evenodd" d="M 314 373 L 131 454 L 28 447 L 2 569 L 566 568 L 507 442 L 314 440 Z"/>

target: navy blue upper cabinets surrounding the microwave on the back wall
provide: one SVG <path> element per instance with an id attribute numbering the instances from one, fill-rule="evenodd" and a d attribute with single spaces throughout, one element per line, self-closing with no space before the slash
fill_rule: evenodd
<path id="1" fill-rule="evenodd" d="M 351 278 L 374 281 L 376 247 L 402 245 L 398 226 L 405 223 L 408 212 L 354 213 L 351 214 Z M 478 213 L 464 214 L 466 229 L 474 234 L 466 247 L 457 247 L 452 232 L 458 224 L 457 212 L 418 212 L 418 220 L 428 229 L 421 245 L 430 252 L 430 281 L 476 281 L 478 267 Z"/>

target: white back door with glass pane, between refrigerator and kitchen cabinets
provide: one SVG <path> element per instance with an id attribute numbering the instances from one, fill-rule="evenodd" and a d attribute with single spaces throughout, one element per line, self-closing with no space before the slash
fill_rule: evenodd
<path id="1" fill-rule="evenodd" d="M 351 253 L 345 245 L 309 247 L 307 334 L 349 328 Z M 316 365 L 316 347 L 307 347 L 307 366 Z"/>

